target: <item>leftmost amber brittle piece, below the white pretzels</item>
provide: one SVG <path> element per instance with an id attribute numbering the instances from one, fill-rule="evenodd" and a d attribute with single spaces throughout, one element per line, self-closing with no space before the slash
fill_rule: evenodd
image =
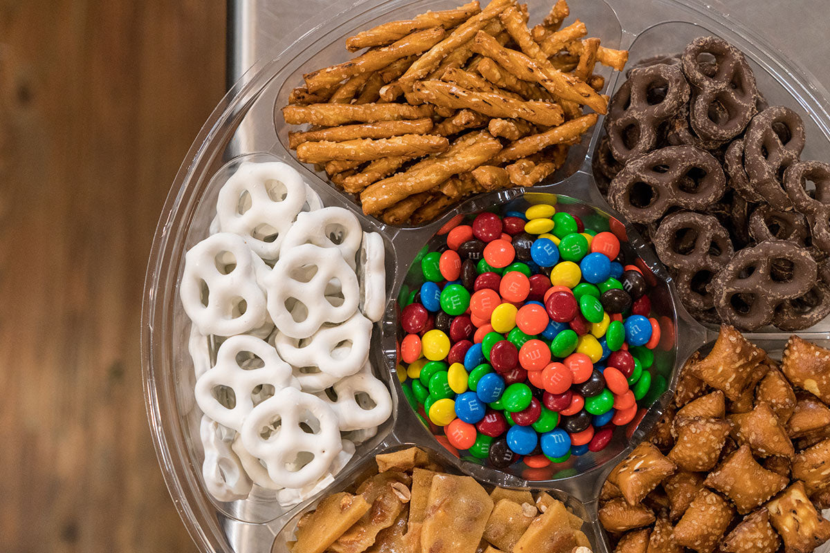
<path id="1" fill-rule="evenodd" d="M 300 519 L 292 553 L 323 553 L 369 512 L 369 507 L 371 503 L 362 495 L 339 492 L 326 497 L 313 513 Z"/>

